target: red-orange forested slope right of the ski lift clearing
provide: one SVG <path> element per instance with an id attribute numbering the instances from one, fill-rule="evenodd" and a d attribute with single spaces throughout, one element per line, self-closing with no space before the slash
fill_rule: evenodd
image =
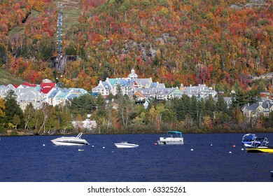
<path id="1" fill-rule="evenodd" d="M 85 9 L 66 44 L 79 44 L 85 72 L 100 79 L 134 67 L 170 85 L 246 86 L 248 75 L 272 71 L 272 2 L 260 2 L 110 1 Z"/>

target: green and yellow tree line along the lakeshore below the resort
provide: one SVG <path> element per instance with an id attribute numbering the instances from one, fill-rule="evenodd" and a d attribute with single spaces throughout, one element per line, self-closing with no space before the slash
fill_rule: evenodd
<path id="1" fill-rule="evenodd" d="M 223 95 L 218 99 L 197 99 L 183 94 L 181 98 L 158 101 L 150 99 L 148 108 L 127 95 L 110 95 L 104 99 L 102 95 L 94 97 L 83 94 L 65 106 L 44 104 L 41 109 L 34 109 L 29 104 L 25 111 L 20 109 L 13 90 L 7 92 L 5 99 L 0 99 L 1 132 L 13 130 L 13 133 L 26 134 L 69 134 L 76 132 L 94 134 L 123 133 L 162 133 L 168 130 L 182 132 L 271 132 L 273 113 L 269 117 L 261 116 L 258 120 L 247 122 L 241 113 L 241 106 L 254 102 L 255 99 L 238 92 L 228 106 Z M 97 121 L 94 130 L 72 125 L 72 121 L 83 121 L 91 114 Z"/>

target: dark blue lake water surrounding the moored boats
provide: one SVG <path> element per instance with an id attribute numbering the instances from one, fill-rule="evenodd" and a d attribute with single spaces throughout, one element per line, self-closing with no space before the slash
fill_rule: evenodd
<path id="1" fill-rule="evenodd" d="M 155 145 L 165 134 L 83 135 L 89 146 L 55 146 L 50 140 L 59 136 L 1 137 L 0 181 L 271 181 L 273 153 L 242 151 L 243 135 L 183 134 L 177 146 Z M 257 135 L 273 143 L 273 134 Z M 119 141 L 139 148 L 116 148 Z"/>

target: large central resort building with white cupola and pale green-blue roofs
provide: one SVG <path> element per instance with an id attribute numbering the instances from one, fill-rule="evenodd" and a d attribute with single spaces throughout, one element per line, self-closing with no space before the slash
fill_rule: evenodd
<path id="1" fill-rule="evenodd" d="M 168 100 L 180 98 L 182 94 L 189 97 L 193 95 L 199 99 L 207 99 L 207 97 L 216 97 L 217 92 L 212 87 L 206 85 L 166 88 L 164 83 L 154 83 L 152 78 L 138 78 L 134 69 L 127 78 L 106 78 L 105 81 L 100 80 L 99 85 L 92 89 L 92 94 L 102 94 L 107 98 L 109 94 L 116 95 L 120 91 L 121 94 L 127 94 L 136 102 L 146 102 L 147 99 Z"/>

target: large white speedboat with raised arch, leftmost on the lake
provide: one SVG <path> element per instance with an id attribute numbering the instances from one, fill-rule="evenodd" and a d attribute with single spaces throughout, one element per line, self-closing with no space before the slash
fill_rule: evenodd
<path id="1" fill-rule="evenodd" d="M 57 146 L 79 146 L 79 145 L 89 145 L 85 139 L 81 139 L 81 135 L 83 133 L 78 134 L 77 137 L 59 137 L 56 139 L 52 139 L 52 143 Z"/>

